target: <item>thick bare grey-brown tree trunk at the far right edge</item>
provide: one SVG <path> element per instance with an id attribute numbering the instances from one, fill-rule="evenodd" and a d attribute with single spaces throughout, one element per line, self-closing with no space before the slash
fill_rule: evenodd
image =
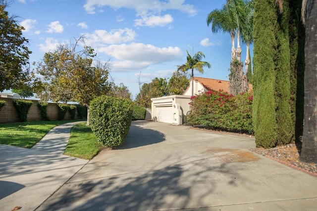
<path id="1" fill-rule="evenodd" d="M 306 2 L 304 131 L 299 160 L 317 163 L 317 2 Z"/>

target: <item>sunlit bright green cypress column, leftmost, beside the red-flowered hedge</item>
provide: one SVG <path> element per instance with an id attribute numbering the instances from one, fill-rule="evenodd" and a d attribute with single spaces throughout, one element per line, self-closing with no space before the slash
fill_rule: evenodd
<path id="1" fill-rule="evenodd" d="M 275 55 L 277 14 L 275 0 L 256 0 L 254 13 L 253 124 L 257 146 L 276 145 Z"/>

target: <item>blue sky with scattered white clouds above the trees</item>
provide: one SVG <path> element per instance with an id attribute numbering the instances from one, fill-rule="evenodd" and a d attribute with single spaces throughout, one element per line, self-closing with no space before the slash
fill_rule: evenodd
<path id="1" fill-rule="evenodd" d="M 186 62 L 186 50 L 202 51 L 211 68 L 194 76 L 228 80 L 229 34 L 212 34 L 209 12 L 225 0 L 14 0 L 6 10 L 17 15 L 29 40 L 30 63 L 56 44 L 85 35 L 98 59 L 110 59 L 115 84 L 128 86 L 133 99 L 142 83 L 170 78 Z M 252 50 L 252 48 L 251 48 Z M 242 61 L 245 60 L 242 44 Z"/>

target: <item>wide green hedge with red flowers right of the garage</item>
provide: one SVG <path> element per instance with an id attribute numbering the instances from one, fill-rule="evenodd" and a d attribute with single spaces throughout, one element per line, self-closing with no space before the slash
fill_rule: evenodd
<path id="1" fill-rule="evenodd" d="M 249 92 L 233 96 L 227 92 L 208 91 L 193 97 L 187 123 L 252 134 L 252 100 Z"/>

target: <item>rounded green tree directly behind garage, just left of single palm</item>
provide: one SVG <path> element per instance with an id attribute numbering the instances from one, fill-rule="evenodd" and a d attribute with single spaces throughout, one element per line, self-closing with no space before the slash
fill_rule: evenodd
<path id="1" fill-rule="evenodd" d="M 167 84 L 168 93 L 183 94 L 189 85 L 187 74 L 182 71 L 175 71 Z"/>

